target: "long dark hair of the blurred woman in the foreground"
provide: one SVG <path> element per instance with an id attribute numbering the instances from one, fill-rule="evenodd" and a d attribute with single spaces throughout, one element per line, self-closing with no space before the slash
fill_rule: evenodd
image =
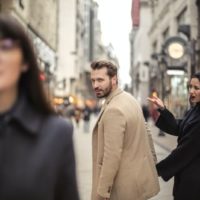
<path id="1" fill-rule="evenodd" d="M 10 15 L 0 15 L 0 39 L 17 41 L 22 50 L 27 72 L 22 73 L 19 81 L 19 92 L 26 95 L 30 104 L 41 114 L 53 114 L 40 80 L 40 70 L 33 44 L 23 26 Z"/>

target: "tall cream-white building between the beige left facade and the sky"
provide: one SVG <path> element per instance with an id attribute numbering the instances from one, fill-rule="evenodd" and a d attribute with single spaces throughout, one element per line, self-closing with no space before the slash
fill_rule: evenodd
<path id="1" fill-rule="evenodd" d="M 100 54 L 98 4 L 93 0 L 60 0 L 58 33 L 56 95 L 93 98 L 89 72 L 90 63 Z"/>

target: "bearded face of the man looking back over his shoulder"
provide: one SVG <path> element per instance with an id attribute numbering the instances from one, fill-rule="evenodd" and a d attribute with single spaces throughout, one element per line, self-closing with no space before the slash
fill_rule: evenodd
<path id="1" fill-rule="evenodd" d="M 110 78 L 107 69 L 103 67 L 91 71 L 91 81 L 97 98 L 104 98 L 112 92 L 113 85 L 116 84 L 116 77 Z"/>

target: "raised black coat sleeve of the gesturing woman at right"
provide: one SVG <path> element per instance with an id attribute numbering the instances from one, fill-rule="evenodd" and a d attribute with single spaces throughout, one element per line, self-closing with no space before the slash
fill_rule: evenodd
<path id="1" fill-rule="evenodd" d="M 156 126 L 168 134 L 178 136 L 180 120 L 176 120 L 173 114 L 167 109 L 159 112 L 160 116 L 156 122 Z"/>

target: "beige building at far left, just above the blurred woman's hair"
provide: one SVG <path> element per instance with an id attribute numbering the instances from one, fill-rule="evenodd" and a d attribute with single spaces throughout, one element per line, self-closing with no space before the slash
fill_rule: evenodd
<path id="1" fill-rule="evenodd" d="M 38 54 L 44 85 L 52 95 L 57 67 L 58 0 L 0 0 L 0 12 L 14 16 L 26 28 Z"/>

